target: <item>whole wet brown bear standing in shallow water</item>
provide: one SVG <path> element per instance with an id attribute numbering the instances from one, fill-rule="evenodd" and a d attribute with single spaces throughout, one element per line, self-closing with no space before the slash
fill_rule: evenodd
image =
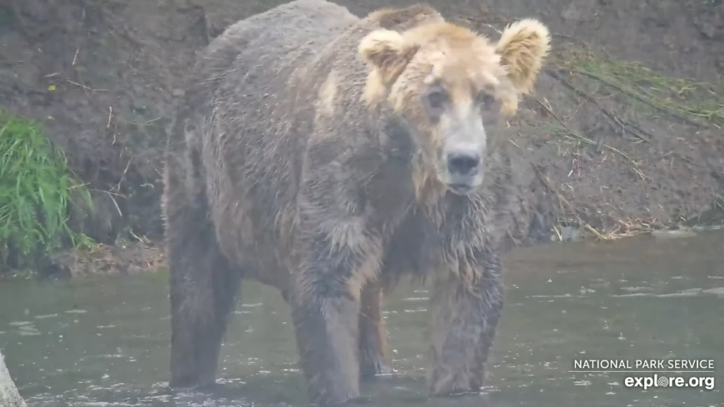
<path id="1" fill-rule="evenodd" d="M 365 18 L 297 0 L 199 56 L 165 168 L 171 387 L 211 385 L 240 280 L 282 291 L 313 403 L 384 369 L 382 292 L 434 280 L 433 395 L 479 392 L 515 222 L 499 117 L 549 51 L 536 20 L 497 43 L 416 5 Z"/>

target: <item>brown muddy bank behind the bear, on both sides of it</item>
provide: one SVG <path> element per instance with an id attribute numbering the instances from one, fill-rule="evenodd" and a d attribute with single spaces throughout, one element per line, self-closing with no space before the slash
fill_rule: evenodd
<path id="1" fill-rule="evenodd" d="M 96 213 L 75 214 L 77 225 L 109 245 L 119 235 L 161 237 L 161 152 L 182 75 L 208 38 L 282 2 L 0 1 L 0 106 L 43 120 L 92 188 Z M 414 1 L 337 2 L 365 14 Z M 552 30 L 536 95 L 508 129 L 532 219 L 531 234 L 516 240 L 720 220 L 720 0 L 428 2 L 492 36 L 529 16 Z M 609 61 L 660 74 L 632 80 Z"/>

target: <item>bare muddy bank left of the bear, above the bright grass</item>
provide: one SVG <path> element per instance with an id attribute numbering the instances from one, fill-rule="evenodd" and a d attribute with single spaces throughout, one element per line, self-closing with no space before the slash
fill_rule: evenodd
<path id="1" fill-rule="evenodd" d="M 43 121 L 96 212 L 75 222 L 103 243 L 161 237 L 161 151 L 175 85 L 206 44 L 180 1 L 0 2 L 0 106 Z"/>

